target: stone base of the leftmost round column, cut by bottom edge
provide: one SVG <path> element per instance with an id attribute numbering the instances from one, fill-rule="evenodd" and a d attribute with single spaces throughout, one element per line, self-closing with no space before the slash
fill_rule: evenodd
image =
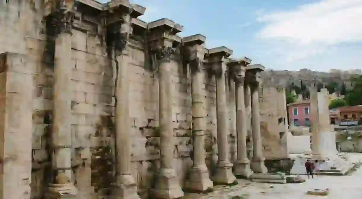
<path id="1" fill-rule="evenodd" d="M 73 183 L 67 184 L 50 184 L 49 192 L 46 194 L 46 199 L 76 199 L 77 188 Z"/>

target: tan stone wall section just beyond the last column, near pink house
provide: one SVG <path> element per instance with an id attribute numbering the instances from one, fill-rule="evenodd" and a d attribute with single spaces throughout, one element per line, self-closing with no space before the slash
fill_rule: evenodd
<path id="1" fill-rule="evenodd" d="M 261 133 L 266 159 L 288 157 L 285 90 L 264 86 L 260 95 Z"/>

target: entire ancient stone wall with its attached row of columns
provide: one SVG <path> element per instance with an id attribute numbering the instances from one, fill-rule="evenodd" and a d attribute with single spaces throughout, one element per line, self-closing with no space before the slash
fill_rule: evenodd
<path id="1" fill-rule="evenodd" d="M 127 0 L 9 0 L 0 11 L 1 199 L 285 183 L 264 165 L 262 65 L 181 38 L 169 19 L 141 21 L 146 8 Z"/>

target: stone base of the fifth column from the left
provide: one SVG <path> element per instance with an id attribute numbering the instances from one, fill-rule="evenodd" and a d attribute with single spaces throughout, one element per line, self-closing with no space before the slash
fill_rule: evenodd
<path id="1" fill-rule="evenodd" d="M 232 173 L 232 166 L 230 162 L 218 161 L 212 181 L 218 185 L 231 185 L 235 183 L 236 177 Z"/>

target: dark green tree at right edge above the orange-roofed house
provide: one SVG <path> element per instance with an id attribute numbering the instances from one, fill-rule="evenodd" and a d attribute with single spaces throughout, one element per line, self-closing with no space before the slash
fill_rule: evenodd
<path id="1" fill-rule="evenodd" d="M 362 75 L 352 79 L 353 89 L 346 94 L 348 106 L 362 105 Z"/>

